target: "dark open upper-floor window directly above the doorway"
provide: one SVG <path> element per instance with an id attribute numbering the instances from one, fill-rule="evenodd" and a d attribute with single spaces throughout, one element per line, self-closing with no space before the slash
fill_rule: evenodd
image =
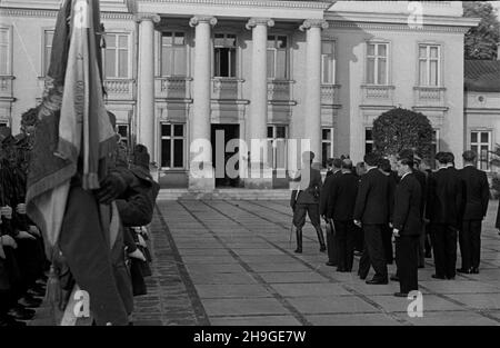
<path id="1" fill-rule="evenodd" d="M 216 33 L 213 40 L 213 73 L 216 77 L 234 78 L 237 66 L 237 37 L 231 33 Z"/>

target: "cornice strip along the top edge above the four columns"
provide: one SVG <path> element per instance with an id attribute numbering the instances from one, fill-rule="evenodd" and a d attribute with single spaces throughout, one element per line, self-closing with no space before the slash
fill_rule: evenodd
<path id="1" fill-rule="evenodd" d="M 263 7 L 288 9 L 327 10 L 333 1 L 284 1 L 284 0 L 140 0 L 142 3 L 180 3 L 201 6 L 230 6 L 230 7 Z"/>

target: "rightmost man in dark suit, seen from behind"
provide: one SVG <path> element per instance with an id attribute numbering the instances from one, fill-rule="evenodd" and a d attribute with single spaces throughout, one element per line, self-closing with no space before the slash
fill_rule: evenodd
<path id="1" fill-rule="evenodd" d="M 460 170 L 464 185 L 464 210 L 462 229 L 460 230 L 461 274 L 479 274 L 481 259 L 481 222 L 488 211 L 490 186 L 484 171 L 476 168 L 476 152 L 466 151 L 462 155 L 463 169 Z"/>

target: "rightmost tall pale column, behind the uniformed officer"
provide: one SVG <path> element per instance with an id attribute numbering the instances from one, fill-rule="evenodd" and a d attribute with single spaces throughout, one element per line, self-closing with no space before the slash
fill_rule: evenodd
<path id="1" fill-rule="evenodd" d="M 314 163 L 321 163 L 321 29 L 327 29 L 326 20 L 306 20 L 300 30 L 306 31 L 306 122 L 303 136 L 310 141 L 314 152 Z"/>

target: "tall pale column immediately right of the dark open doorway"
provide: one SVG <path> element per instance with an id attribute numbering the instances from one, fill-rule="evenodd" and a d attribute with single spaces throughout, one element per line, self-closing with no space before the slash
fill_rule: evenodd
<path id="1" fill-rule="evenodd" d="M 272 171 L 267 168 L 267 151 L 258 152 L 252 149 L 253 141 L 264 141 L 268 138 L 268 27 L 273 27 L 274 21 L 270 18 L 251 18 L 247 22 L 247 29 L 252 30 L 252 78 L 250 96 L 250 173 L 246 179 L 248 188 L 271 188 Z"/>

